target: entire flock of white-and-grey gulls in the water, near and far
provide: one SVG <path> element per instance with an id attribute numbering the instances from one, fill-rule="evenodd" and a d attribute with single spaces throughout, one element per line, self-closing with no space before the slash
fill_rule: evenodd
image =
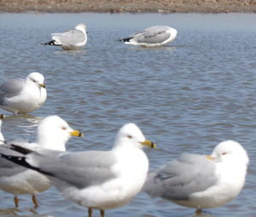
<path id="1" fill-rule="evenodd" d="M 177 30 L 169 26 L 151 26 L 118 40 L 160 47 L 176 37 Z M 86 26 L 79 24 L 73 30 L 53 33 L 52 40 L 42 45 L 82 49 L 86 43 Z M 37 110 L 46 98 L 44 76 L 38 72 L 0 86 L 0 107 L 14 116 Z M 108 151 L 67 151 L 66 143 L 72 136 L 83 134 L 58 116 L 45 117 L 39 123 L 32 143 L 4 140 L 0 131 L 0 189 L 13 194 L 15 207 L 19 206 L 19 195 L 29 194 L 38 208 L 36 195 L 55 186 L 63 197 L 87 208 L 89 217 L 94 209 L 104 217 L 106 209 L 124 206 L 141 191 L 201 213 L 202 208 L 229 203 L 246 180 L 247 151 L 234 140 L 220 142 L 210 155 L 181 154 L 148 171 L 143 147 L 156 146 L 135 123 L 119 128 Z"/>

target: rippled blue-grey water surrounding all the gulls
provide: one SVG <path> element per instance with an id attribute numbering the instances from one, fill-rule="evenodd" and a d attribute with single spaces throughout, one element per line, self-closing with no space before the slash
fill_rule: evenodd
<path id="1" fill-rule="evenodd" d="M 3 120 L 7 140 L 35 137 L 38 122 L 52 114 L 83 131 L 70 151 L 111 148 L 123 123 L 134 122 L 160 149 L 148 151 L 151 168 L 182 152 L 211 153 L 218 142 L 239 141 L 250 157 L 247 182 L 231 203 L 207 209 L 207 216 L 256 216 L 256 14 L 0 14 L 1 83 L 29 72 L 44 74 L 48 99 L 27 117 Z M 81 51 L 39 45 L 50 33 L 88 27 Z M 168 47 L 142 49 L 116 39 L 148 26 L 177 29 Z M 1 111 L 4 114 L 6 111 Z M 0 192 L 3 216 L 87 216 L 85 208 L 61 197 L 55 188 L 29 196 Z M 193 216 L 183 208 L 140 193 L 112 217 Z M 98 212 L 94 216 L 99 216 Z"/>

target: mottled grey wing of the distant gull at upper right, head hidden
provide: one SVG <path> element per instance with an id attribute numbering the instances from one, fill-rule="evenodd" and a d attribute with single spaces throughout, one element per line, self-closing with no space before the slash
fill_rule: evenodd
<path id="1" fill-rule="evenodd" d="M 171 36 L 171 33 L 167 30 L 168 27 L 166 26 L 152 26 L 132 37 L 137 43 L 162 43 Z"/>

